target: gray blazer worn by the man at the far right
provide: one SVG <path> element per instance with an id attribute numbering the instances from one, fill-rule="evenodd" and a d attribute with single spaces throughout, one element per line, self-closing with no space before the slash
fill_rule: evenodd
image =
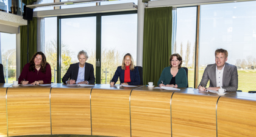
<path id="1" fill-rule="evenodd" d="M 199 85 L 206 87 L 209 79 L 210 87 L 216 87 L 216 64 L 207 65 Z M 238 74 L 235 65 L 225 63 L 222 82 L 223 89 L 226 89 L 228 92 L 236 92 L 238 88 Z"/>

